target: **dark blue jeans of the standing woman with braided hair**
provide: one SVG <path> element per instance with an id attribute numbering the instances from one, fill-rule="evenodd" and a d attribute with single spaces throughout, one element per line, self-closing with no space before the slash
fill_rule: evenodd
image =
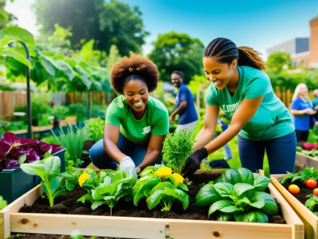
<path id="1" fill-rule="evenodd" d="M 296 133 L 264 141 L 246 140 L 238 135 L 239 158 L 243 168 L 252 172 L 263 169 L 264 154 L 268 158 L 270 174 L 294 173 L 296 161 Z"/>

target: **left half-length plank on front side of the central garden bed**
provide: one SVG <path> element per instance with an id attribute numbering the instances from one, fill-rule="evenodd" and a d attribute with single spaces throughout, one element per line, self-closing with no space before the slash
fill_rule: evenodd
<path id="1" fill-rule="evenodd" d="M 164 239 L 165 220 L 135 217 L 11 213 L 11 230 L 21 233 Z"/>

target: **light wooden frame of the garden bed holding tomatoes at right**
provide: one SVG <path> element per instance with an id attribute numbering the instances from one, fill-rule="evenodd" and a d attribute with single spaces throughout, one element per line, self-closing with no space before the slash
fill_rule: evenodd
<path id="1" fill-rule="evenodd" d="M 301 201 L 296 199 L 279 181 L 278 179 L 284 178 L 287 174 L 274 174 L 271 175 L 271 183 L 276 187 L 280 194 L 286 199 L 293 210 L 300 217 L 305 225 L 305 238 L 316 239 L 318 238 L 318 217 L 312 213 Z M 293 182 L 292 184 L 297 184 Z M 301 182 L 302 184 L 302 182 Z M 302 189 L 301 189 L 302 190 Z M 312 191 L 310 189 L 309 191 Z M 311 192 L 312 193 L 312 192 Z M 308 193 L 309 194 L 309 193 Z M 308 198 L 307 198 L 308 199 Z"/>

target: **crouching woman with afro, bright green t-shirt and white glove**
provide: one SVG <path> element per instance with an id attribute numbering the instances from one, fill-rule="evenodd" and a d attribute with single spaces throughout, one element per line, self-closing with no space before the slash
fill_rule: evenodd
<path id="1" fill-rule="evenodd" d="M 146 57 L 123 57 L 110 73 L 112 88 L 120 93 L 108 106 L 104 137 L 89 151 L 99 169 L 117 168 L 137 177 L 145 167 L 160 164 L 169 133 L 165 105 L 149 96 L 158 83 L 158 69 Z"/>

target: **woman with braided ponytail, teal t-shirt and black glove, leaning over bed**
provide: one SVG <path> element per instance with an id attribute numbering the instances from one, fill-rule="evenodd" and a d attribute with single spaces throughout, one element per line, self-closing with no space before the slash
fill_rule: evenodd
<path id="1" fill-rule="evenodd" d="M 292 116 L 275 96 L 259 53 L 217 38 L 205 48 L 203 65 L 212 83 L 205 95 L 204 126 L 196 136 L 185 177 L 237 134 L 242 167 L 252 172 L 262 169 L 266 149 L 271 174 L 294 172 L 297 141 Z M 211 141 L 220 107 L 231 124 Z"/>

